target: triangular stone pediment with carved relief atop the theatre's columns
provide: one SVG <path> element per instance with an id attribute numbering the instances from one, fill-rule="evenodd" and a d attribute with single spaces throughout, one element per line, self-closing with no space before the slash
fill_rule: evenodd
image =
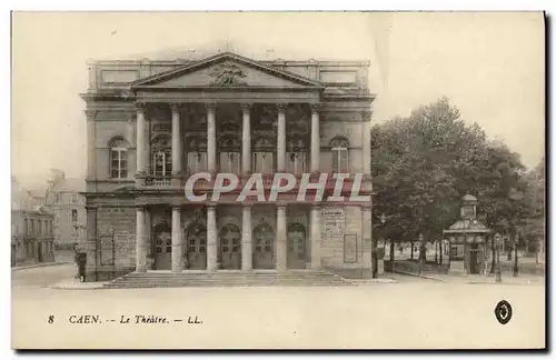
<path id="1" fill-rule="evenodd" d="M 166 88 L 314 88 L 316 80 L 267 67 L 231 52 L 220 53 L 193 64 L 140 79 L 135 89 Z"/>

